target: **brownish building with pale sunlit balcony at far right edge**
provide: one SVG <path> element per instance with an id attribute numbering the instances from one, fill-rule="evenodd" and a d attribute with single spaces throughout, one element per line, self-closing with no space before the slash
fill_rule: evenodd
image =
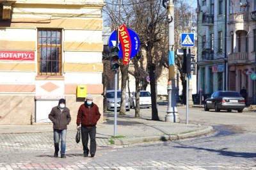
<path id="1" fill-rule="evenodd" d="M 227 4 L 228 88 L 247 89 L 247 105 L 255 104 L 256 0 Z"/>

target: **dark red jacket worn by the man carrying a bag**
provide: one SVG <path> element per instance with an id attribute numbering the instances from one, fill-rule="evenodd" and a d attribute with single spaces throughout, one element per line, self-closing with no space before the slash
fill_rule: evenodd
<path id="1" fill-rule="evenodd" d="M 87 102 L 84 102 L 77 112 L 76 124 L 77 126 L 81 124 L 82 127 L 94 127 L 97 125 L 100 116 L 99 107 L 96 104 L 93 104 L 92 102 L 89 107 Z"/>

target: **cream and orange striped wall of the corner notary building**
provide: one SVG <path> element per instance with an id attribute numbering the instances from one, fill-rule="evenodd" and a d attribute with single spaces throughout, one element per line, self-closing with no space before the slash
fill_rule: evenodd
<path id="1" fill-rule="evenodd" d="M 14 2 L 14 1 L 13 1 Z M 99 106 L 102 98 L 102 0 L 16 1 L 10 19 L 0 20 L 0 124 L 45 123 L 51 108 L 66 98 L 71 123 L 76 123 L 84 97 L 77 86 L 86 87 Z M 0 1 L 1 8 L 5 8 Z M 3 17 L 3 16 L 2 16 Z M 38 29 L 61 29 L 62 72 L 59 76 L 38 75 Z M 33 60 L 4 58 L 4 52 L 28 51 Z M 42 109 L 41 109 L 42 108 Z M 40 118 L 40 120 L 36 120 Z"/>

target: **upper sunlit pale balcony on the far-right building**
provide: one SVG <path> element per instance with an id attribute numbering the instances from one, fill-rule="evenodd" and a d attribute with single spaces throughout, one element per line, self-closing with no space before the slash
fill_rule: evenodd
<path id="1" fill-rule="evenodd" d="M 237 12 L 231 13 L 228 16 L 228 24 L 235 24 L 239 22 L 248 22 L 252 20 L 250 17 L 250 12 Z"/>

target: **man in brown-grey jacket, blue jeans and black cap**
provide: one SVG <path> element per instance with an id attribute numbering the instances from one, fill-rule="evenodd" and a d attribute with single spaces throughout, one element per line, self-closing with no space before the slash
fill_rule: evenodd
<path id="1" fill-rule="evenodd" d="M 53 137 L 54 137 L 54 157 L 58 157 L 60 150 L 60 137 L 61 137 L 61 158 L 66 158 L 66 138 L 67 138 L 67 125 L 71 121 L 70 111 L 65 107 L 66 101 L 64 98 L 59 100 L 59 104 L 52 107 L 52 111 L 49 114 L 49 119 L 53 123 Z"/>

